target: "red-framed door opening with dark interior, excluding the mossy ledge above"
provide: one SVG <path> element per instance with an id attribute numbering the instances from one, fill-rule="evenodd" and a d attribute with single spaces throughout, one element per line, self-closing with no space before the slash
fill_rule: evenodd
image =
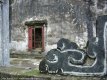
<path id="1" fill-rule="evenodd" d="M 28 28 L 29 50 L 44 51 L 44 27 Z"/>

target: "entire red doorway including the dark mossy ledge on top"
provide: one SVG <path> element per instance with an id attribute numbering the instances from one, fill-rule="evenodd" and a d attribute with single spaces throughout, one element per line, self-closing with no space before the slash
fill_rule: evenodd
<path id="1" fill-rule="evenodd" d="M 28 50 L 45 51 L 47 20 L 26 21 L 25 25 L 28 26 Z"/>

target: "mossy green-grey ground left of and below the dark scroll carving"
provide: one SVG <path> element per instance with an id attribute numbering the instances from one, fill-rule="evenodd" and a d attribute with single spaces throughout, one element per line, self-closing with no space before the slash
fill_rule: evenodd
<path id="1" fill-rule="evenodd" d="M 42 59 L 22 59 L 11 58 L 9 67 L 0 67 L 0 72 L 26 75 L 35 77 L 50 77 L 51 80 L 107 80 L 106 77 L 77 77 L 77 76 L 64 76 L 58 74 L 41 74 L 39 73 L 39 63 Z"/>

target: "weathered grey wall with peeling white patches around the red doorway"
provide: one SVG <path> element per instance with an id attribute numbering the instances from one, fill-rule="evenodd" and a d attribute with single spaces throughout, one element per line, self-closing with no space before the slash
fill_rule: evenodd
<path id="1" fill-rule="evenodd" d="M 106 0 L 13 0 L 11 6 L 12 49 L 22 51 L 26 51 L 28 46 L 26 20 L 47 20 L 45 42 L 48 50 L 56 47 L 60 38 L 85 46 L 87 36 L 90 40 L 95 36 L 92 33 L 96 31 L 96 17 L 107 14 Z"/>

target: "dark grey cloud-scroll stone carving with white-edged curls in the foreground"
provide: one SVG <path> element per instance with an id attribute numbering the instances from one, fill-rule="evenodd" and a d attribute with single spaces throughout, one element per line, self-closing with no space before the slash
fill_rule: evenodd
<path id="1" fill-rule="evenodd" d="M 57 49 L 50 50 L 40 62 L 40 72 L 95 76 L 106 74 L 106 29 L 107 15 L 99 16 L 96 21 L 96 37 L 87 42 L 85 49 L 68 39 L 60 39 Z M 85 65 L 87 58 L 93 59 Z"/>

